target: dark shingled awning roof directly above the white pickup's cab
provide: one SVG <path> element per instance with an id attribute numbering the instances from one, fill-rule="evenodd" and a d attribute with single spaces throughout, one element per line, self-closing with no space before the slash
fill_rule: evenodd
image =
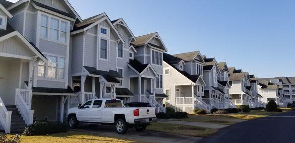
<path id="1" fill-rule="evenodd" d="M 122 76 L 117 72 L 117 71 L 102 71 L 102 70 L 97 70 L 94 67 L 89 67 L 89 66 L 83 66 L 90 74 L 94 75 L 100 75 L 102 76 L 105 80 L 108 82 L 112 83 L 120 83 L 117 78 L 122 78 Z"/>

